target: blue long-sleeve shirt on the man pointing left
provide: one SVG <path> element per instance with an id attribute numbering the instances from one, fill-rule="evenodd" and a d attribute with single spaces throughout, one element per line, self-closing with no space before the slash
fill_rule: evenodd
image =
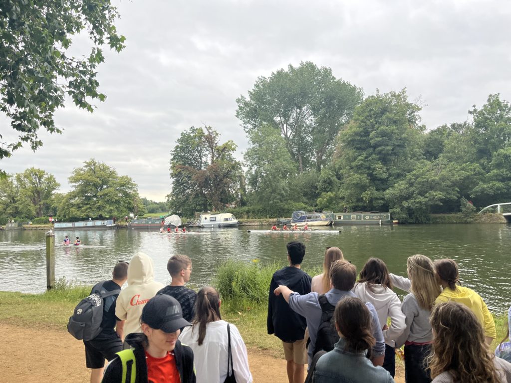
<path id="1" fill-rule="evenodd" d="M 325 296 L 327 297 L 327 301 L 335 306 L 337 302 L 339 302 L 344 297 L 357 297 L 352 291 L 342 291 L 337 289 L 331 289 L 328 291 Z M 380 326 L 380 321 L 378 320 L 378 314 L 376 313 L 375 306 L 372 303 L 365 303 L 367 308 L 369 309 L 369 313 L 372 318 L 373 325 L 373 337 L 376 339 L 376 344 L 373 347 L 373 357 L 381 356 L 385 354 L 385 342 L 383 340 L 383 333 Z M 309 343 L 309 349 L 307 350 L 309 366 L 311 365 L 314 347 L 316 345 L 316 335 L 318 332 L 318 327 L 321 324 L 321 306 L 318 301 L 318 293 L 309 293 L 305 295 L 300 295 L 298 293 L 293 293 L 289 296 L 289 307 L 291 309 L 304 316 L 307 320 L 307 327 L 309 328 L 309 337 L 311 338 L 311 343 Z"/>

